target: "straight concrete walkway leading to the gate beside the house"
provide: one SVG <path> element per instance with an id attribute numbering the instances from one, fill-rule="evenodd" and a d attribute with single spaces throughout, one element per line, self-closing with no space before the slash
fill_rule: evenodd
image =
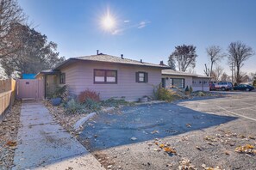
<path id="1" fill-rule="evenodd" d="M 23 102 L 20 120 L 12 169 L 104 169 L 41 102 Z"/>

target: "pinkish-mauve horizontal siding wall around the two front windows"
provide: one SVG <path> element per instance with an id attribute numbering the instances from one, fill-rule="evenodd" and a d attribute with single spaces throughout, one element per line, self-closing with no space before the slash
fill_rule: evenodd
<path id="1" fill-rule="evenodd" d="M 94 69 L 117 70 L 117 84 L 94 84 Z M 89 88 L 100 93 L 102 100 L 111 97 L 138 100 L 143 95 L 153 95 L 153 86 L 161 82 L 161 69 L 125 64 L 106 64 L 78 61 L 60 70 L 66 73 L 66 85 L 72 94 L 78 95 Z M 148 73 L 147 83 L 135 82 L 135 72 Z"/>

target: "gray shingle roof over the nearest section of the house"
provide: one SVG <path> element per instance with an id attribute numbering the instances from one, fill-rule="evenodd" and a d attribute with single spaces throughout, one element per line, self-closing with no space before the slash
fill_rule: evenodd
<path id="1" fill-rule="evenodd" d="M 84 61 L 108 62 L 108 63 L 115 63 L 115 64 L 133 64 L 133 65 L 141 65 L 141 66 L 159 67 L 163 69 L 169 68 L 168 66 L 165 66 L 165 65 L 150 64 L 143 61 L 140 62 L 133 59 L 110 56 L 107 54 L 84 56 L 84 57 L 78 57 L 74 59 L 84 60 Z"/>

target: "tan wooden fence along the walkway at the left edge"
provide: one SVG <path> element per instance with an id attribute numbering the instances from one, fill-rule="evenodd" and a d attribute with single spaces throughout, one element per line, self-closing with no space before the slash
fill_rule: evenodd
<path id="1" fill-rule="evenodd" d="M 0 122 L 4 113 L 16 100 L 16 81 L 14 79 L 0 80 Z"/>

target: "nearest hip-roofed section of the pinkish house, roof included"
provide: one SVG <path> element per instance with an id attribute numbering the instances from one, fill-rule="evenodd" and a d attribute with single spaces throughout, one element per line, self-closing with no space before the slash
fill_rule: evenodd
<path id="1" fill-rule="evenodd" d="M 69 93 L 78 95 L 86 89 L 100 94 L 101 100 L 111 97 L 138 100 L 153 95 L 153 87 L 161 82 L 166 65 L 149 64 L 142 60 L 97 54 L 69 58 L 54 70 L 43 70 L 36 75 L 45 82 L 45 97 L 57 86 L 67 85 Z"/>

